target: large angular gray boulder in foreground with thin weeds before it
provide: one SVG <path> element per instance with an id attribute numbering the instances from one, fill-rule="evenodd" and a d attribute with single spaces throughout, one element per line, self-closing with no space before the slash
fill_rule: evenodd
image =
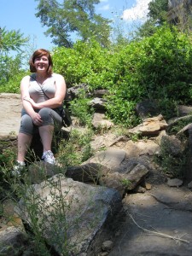
<path id="1" fill-rule="evenodd" d="M 59 255 L 63 250 L 79 255 L 93 250 L 95 244 L 102 246 L 102 231 L 108 229 L 121 207 L 121 197 L 114 189 L 56 175 L 32 185 L 20 200 L 17 212 L 31 225 L 33 211 L 38 219 L 36 228 Z"/>

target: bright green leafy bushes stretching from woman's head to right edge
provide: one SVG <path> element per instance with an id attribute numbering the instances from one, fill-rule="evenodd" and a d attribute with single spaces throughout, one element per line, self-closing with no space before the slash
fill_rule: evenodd
<path id="1" fill-rule="evenodd" d="M 55 71 L 70 86 L 86 83 L 90 90 L 108 89 L 108 117 L 132 126 L 138 122 L 136 104 L 143 99 L 157 100 L 166 118 L 176 114 L 177 104 L 191 103 L 191 49 L 187 34 L 165 25 L 123 47 L 108 50 L 92 41 L 55 49 Z"/>

